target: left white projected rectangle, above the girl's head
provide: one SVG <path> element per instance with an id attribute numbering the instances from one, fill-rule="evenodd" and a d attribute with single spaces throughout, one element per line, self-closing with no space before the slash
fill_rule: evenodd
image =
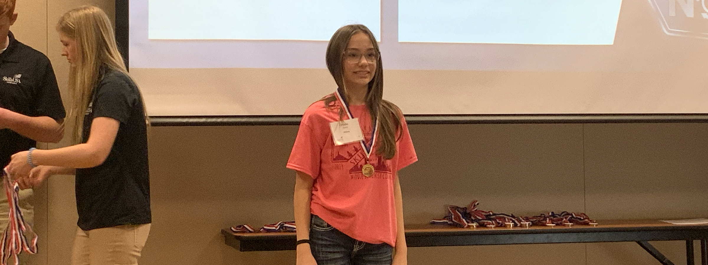
<path id="1" fill-rule="evenodd" d="M 329 40 L 362 23 L 380 36 L 380 0 L 149 0 L 151 40 Z"/>

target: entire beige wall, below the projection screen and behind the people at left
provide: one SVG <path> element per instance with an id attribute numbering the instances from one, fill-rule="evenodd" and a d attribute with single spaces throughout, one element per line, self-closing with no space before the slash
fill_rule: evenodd
<path id="1" fill-rule="evenodd" d="M 69 8 L 113 1 L 18 1 L 13 32 L 45 52 L 66 99 L 68 66 L 54 23 Z M 313 99 L 314 100 L 314 99 Z M 65 100 L 65 103 L 67 101 Z M 502 213 L 586 212 L 591 218 L 708 217 L 708 124 L 411 125 L 420 161 L 401 171 L 407 223 L 446 204 Z M 154 127 L 153 226 L 141 264 L 294 264 L 294 252 L 238 252 L 219 230 L 292 219 L 294 173 L 285 161 L 297 126 Z M 50 148 L 65 145 L 48 145 Z M 46 146 L 46 145 L 45 145 Z M 30 264 L 68 264 L 76 223 L 74 180 L 37 189 L 40 253 Z M 677 264 L 683 242 L 656 242 Z M 451 259 L 450 257 L 455 257 Z M 409 264 L 659 264 L 626 243 L 427 247 Z"/>

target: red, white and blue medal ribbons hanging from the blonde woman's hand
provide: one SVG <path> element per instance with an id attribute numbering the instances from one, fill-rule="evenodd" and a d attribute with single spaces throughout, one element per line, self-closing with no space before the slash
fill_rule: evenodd
<path id="1" fill-rule="evenodd" d="M 25 252 L 30 254 L 37 253 L 37 234 L 32 230 L 32 227 L 25 223 L 25 218 L 22 216 L 22 211 L 20 211 L 18 192 L 20 192 L 20 186 L 17 182 L 10 179 L 10 175 L 3 170 L 3 184 L 5 187 L 5 194 L 7 196 L 7 203 L 9 206 L 8 213 L 8 225 L 2 233 L 2 244 L 0 248 L 1 260 L 0 264 L 6 265 L 10 256 L 15 258 L 15 265 L 20 263 L 17 255 L 24 249 Z M 32 241 L 28 242 L 25 237 L 25 231 L 28 231 L 32 235 Z"/>

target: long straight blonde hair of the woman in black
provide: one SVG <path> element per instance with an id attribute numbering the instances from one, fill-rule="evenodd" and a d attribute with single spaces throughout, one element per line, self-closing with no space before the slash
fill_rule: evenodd
<path id="1" fill-rule="evenodd" d="M 69 70 L 69 92 L 73 102 L 67 117 L 74 123 L 72 140 L 81 143 L 84 112 L 91 102 L 93 89 L 100 81 L 101 66 L 130 76 L 118 52 L 113 25 L 101 8 L 79 6 L 64 13 L 57 23 L 57 31 L 76 40 L 76 58 Z M 147 122 L 147 114 L 145 120 Z"/>

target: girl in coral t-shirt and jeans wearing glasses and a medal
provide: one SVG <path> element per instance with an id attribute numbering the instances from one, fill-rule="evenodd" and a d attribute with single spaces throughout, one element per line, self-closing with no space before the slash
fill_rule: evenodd
<path id="1" fill-rule="evenodd" d="M 329 41 L 338 88 L 305 110 L 287 162 L 297 171 L 297 265 L 407 262 L 397 172 L 418 158 L 401 110 L 382 100 L 379 55 L 364 25 Z"/>

